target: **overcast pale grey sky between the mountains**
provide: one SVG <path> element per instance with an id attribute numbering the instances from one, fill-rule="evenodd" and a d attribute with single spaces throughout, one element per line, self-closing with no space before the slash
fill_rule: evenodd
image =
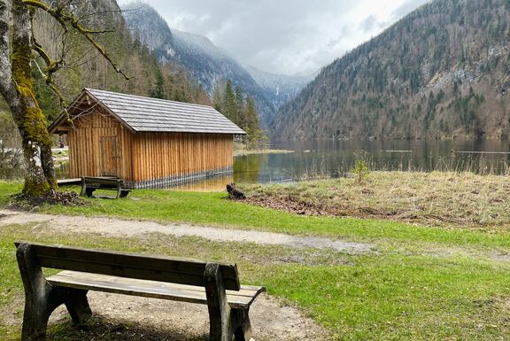
<path id="1" fill-rule="evenodd" d="M 170 28 L 275 74 L 311 74 L 428 1 L 144 0 Z"/>

